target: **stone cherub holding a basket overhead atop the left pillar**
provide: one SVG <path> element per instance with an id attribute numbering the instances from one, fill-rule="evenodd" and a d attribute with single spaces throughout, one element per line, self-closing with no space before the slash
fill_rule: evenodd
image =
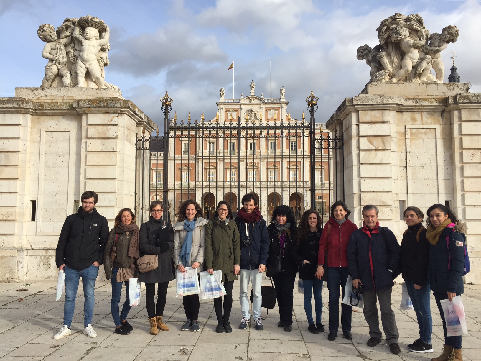
<path id="1" fill-rule="evenodd" d="M 80 26 L 84 27 L 83 36 L 80 34 Z M 102 31 L 103 37 L 100 36 L 99 30 Z M 102 77 L 98 55 L 101 48 L 109 43 L 109 27 L 98 18 L 82 17 L 78 19 L 74 28 L 73 38 L 81 44 L 76 62 L 77 87 L 85 87 L 85 75 L 88 71 L 97 87 L 104 88 L 105 81 Z"/>

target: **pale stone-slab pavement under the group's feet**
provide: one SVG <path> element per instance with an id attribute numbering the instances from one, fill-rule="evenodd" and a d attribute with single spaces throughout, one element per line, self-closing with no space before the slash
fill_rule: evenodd
<path id="1" fill-rule="evenodd" d="M 307 331 L 303 308 L 303 295 L 294 291 L 294 324 L 292 332 L 277 327 L 277 309 L 271 310 L 264 322 L 264 331 L 252 327 L 239 330 L 241 310 L 237 295 L 239 283 L 234 286 L 234 305 L 231 315 L 233 333 L 216 334 L 217 324 L 212 300 L 201 300 L 199 324 L 201 332 L 181 332 L 185 320 L 181 297 L 175 297 L 175 283 L 167 293 L 165 318 L 170 331 L 158 335 L 149 333 L 145 294 L 141 305 L 132 307 L 129 322 L 134 327 L 130 335 L 116 335 L 110 315 L 111 286 L 109 282 L 97 282 L 93 327 L 97 337 L 88 338 L 81 333 L 83 328 L 83 296 L 79 288 L 72 335 L 60 340 L 52 337 L 62 326 L 63 301 L 55 302 L 54 281 L 0 284 L 0 360 L 1 361 L 59 361 L 59 360 L 190 360 L 203 361 L 359 361 L 359 360 L 430 360 L 438 355 L 443 345 L 443 328 L 434 299 L 431 299 L 433 314 L 434 353 L 416 354 L 406 345 L 418 336 L 418 324 L 414 311 L 400 311 L 401 285 L 396 284 L 393 306 L 399 328 L 401 353 L 392 355 L 385 342 L 374 348 L 367 347 L 368 327 L 362 310 L 353 312 L 352 341 L 339 333 L 333 342 L 327 340 L 327 332 L 313 335 Z M 269 284 L 268 280 L 263 281 Z M 28 291 L 18 292 L 17 289 Z M 125 295 L 125 290 L 122 291 Z M 327 328 L 328 291 L 323 289 L 323 323 Z M 481 285 L 465 285 L 463 302 L 467 314 L 469 335 L 463 337 L 464 360 L 481 360 Z M 263 309 L 263 316 L 265 315 Z"/>

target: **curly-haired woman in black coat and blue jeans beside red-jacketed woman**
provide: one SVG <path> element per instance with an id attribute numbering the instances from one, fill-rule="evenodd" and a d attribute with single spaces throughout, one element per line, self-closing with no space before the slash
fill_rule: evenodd
<path id="1" fill-rule="evenodd" d="M 322 314 L 322 284 L 316 278 L 317 252 L 322 232 L 322 220 L 314 209 L 304 212 L 299 222 L 297 243 L 292 247 L 292 255 L 299 264 L 299 279 L 304 283 L 304 311 L 309 323 L 308 330 L 313 334 L 324 332 L 321 323 Z M 314 301 L 316 309 L 316 323 L 312 317 L 312 290 L 314 288 Z"/>

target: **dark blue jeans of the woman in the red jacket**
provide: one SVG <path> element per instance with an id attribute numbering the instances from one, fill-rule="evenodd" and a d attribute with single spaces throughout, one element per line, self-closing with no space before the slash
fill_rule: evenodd
<path id="1" fill-rule="evenodd" d="M 339 297 L 341 297 L 339 287 L 344 297 L 347 276 L 347 267 L 328 267 L 329 332 L 337 333 L 339 330 Z M 352 306 L 341 304 L 342 331 L 351 331 L 352 313 Z"/>

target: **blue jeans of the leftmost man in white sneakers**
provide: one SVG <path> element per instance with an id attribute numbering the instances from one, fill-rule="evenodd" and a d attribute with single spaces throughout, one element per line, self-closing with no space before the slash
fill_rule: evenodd
<path id="1" fill-rule="evenodd" d="M 99 267 L 90 265 L 82 271 L 74 270 L 65 266 L 65 303 L 63 305 L 63 324 L 68 328 L 72 326 L 72 318 L 74 317 L 75 299 L 77 297 L 78 281 L 82 277 L 82 285 L 84 286 L 84 327 L 92 323 L 93 307 L 95 306 L 94 290 L 95 280 L 99 273 Z"/>

